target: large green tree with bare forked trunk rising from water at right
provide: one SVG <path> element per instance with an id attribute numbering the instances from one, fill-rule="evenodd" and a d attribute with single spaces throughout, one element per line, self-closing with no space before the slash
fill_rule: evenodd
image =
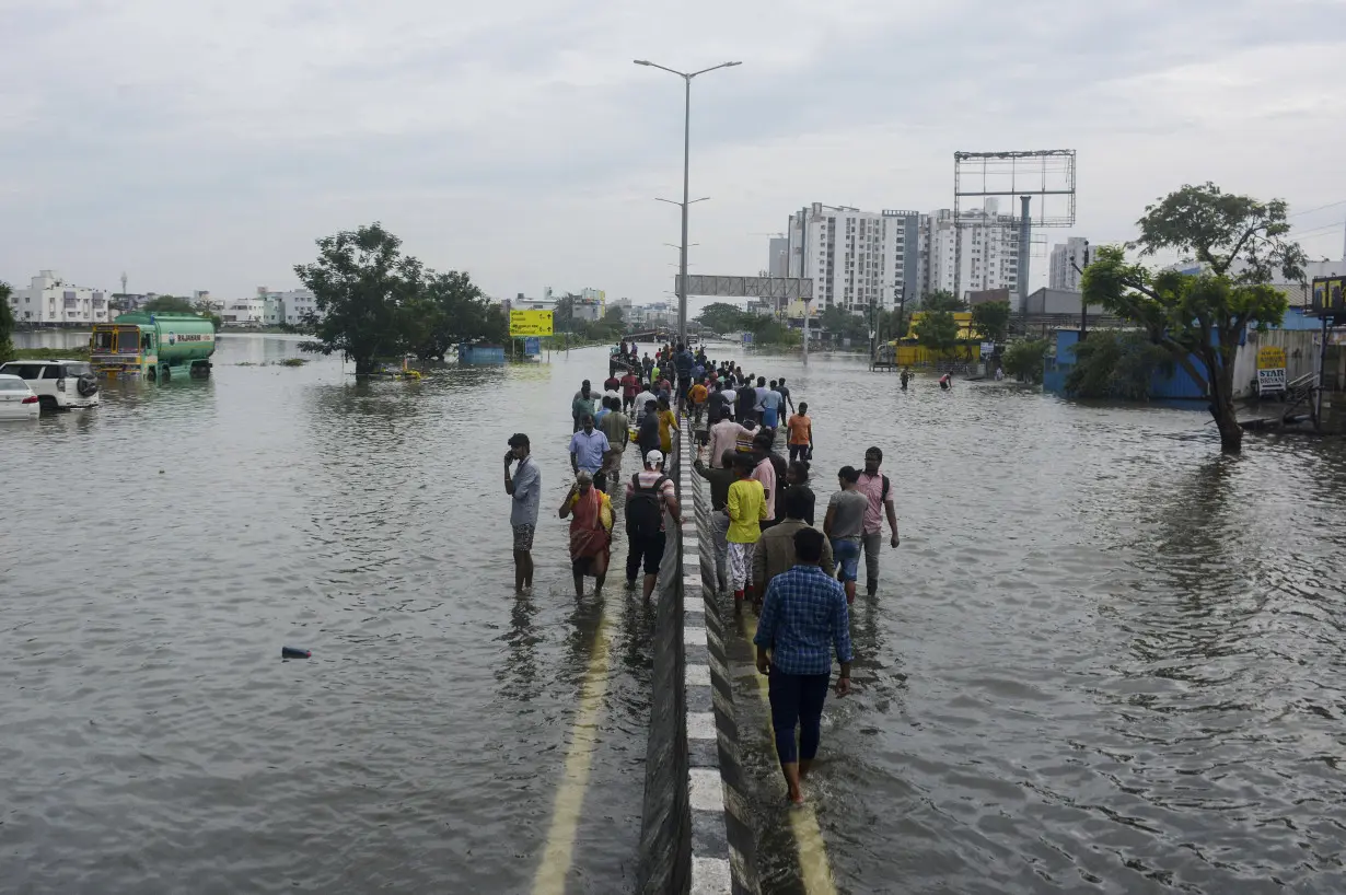
<path id="1" fill-rule="evenodd" d="M 1210 398 L 1226 454 L 1242 450 L 1234 413 L 1234 355 L 1249 326 L 1264 328 L 1285 315 L 1285 295 L 1268 283 L 1304 277 L 1303 249 L 1285 238 L 1287 206 L 1232 195 L 1213 183 L 1183 186 L 1145 209 L 1137 222 L 1141 257 L 1176 250 L 1206 272 L 1183 276 L 1129 264 L 1121 246 L 1102 246 L 1085 269 L 1084 300 L 1141 327 Z M 1195 362 L 1194 362 L 1195 361 Z"/>

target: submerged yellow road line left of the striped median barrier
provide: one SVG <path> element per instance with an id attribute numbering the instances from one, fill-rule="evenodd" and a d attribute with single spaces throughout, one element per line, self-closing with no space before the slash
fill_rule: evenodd
<path id="1" fill-rule="evenodd" d="M 590 768 L 594 764 L 594 747 L 598 744 L 598 717 L 603 711 L 603 696 L 607 693 L 607 642 L 610 596 L 603 598 L 603 614 L 594 633 L 594 653 L 590 655 L 584 684 L 580 686 L 580 704 L 575 712 L 575 725 L 571 731 L 571 747 L 565 752 L 565 773 L 556 787 L 556 806 L 552 809 L 552 826 L 546 832 L 546 851 L 542 863 L 533 878 L 533 891 L 537 895 L 565 895 L 565 878 L 571 872 L 575 853 L 575 834 L 579 830 L 580 809 L 584 808 L 584 793 L 588 790 Z"/>

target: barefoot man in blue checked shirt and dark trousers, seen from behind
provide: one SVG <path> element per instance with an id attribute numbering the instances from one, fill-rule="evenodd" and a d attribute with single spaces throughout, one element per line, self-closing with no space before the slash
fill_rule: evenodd
<path id="1" fill-rule="evenodd" d="M 771 729 L 775 752 L 790 790 L 790 802 L 804 803 L 800 781 L 809 774 L 822 736 L 822 703 L 832 678 L 832 649 L 841 662 L 837 696 L 851 692 L 851 618 L 845 591 L 818 565 L 822 532 L 794 533 L 794 568 L 777 575 L 766 588 L 758 633 L 758 672 L 770 674 Z M 795 748 L 795 728 L 800 743 Z"/>

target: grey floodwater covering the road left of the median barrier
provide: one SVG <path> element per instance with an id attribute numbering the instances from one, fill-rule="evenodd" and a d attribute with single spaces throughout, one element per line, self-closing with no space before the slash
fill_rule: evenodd
<path id="1" fill-rule="evenodd" d="M 209 381 L 0 427 L 0 891 L 530 891 L 600 619 L 571 891 L 630 891 L 653 615 L 621 573 L 576 602 L 556 517 L 606 361 L 357 385 L 297 354 L 225 335 Z"/>

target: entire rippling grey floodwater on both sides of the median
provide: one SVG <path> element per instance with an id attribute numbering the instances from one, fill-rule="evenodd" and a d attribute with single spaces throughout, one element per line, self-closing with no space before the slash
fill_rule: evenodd
<path id="1" fill-rule="evenodd" d="M 598 665 L 568 891 L 630 891 L 651 615 L 619 575 L 576 603 L 552 515 L 602 350 L 240 365 L 296 354 L 226 335 L 210 381 L 0 428 L 0 890 L 530 891 Z M 1201 413 L 748 366 L 809 400 L 821 506 L 870 443 L 898 495 L 809 790 L 841 891 L 1346 891 L 1339 444 L 1228 459 Z M 524 599 L 514 431 L 545 480 Z M 801 891 L 738 684 L 765 891 Z"/>

